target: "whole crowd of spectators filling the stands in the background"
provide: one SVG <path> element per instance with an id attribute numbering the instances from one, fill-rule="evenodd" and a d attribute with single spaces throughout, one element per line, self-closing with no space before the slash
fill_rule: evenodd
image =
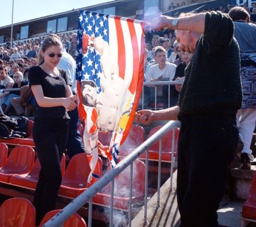
<path id="1" fill-rule="evenodd" d="M 192 0 L 191 3 L 199 2 Z M 185 2 L 174 5 L 170 2 L 168 10 L 182 7 Z M 228 13 L 236 5 L 220 6 L 218 9 L 202 10 L 221 11 Z M 251 7 L 243 5 L 246 11 L 251 15 L 251 23 L 256 23 L 256 4 Z M 186 13 L 186 12 L 184 12 Z M 77 34 L 66 32 L 59 34 L 66 52 L 75 58 L 77 46 Z M 28 88 L 29 67 L 38 64 L 38 52 L 45 36 L 26 40 L 15 41 L 11 46 L 10 41 L 0 45 L 0 98 L 1 107 L 5 114 L 17 114 L 33 116 L 35 100 Z M 190 62 L 192 54 L 179 51 L 179 43 L 176 41 L 174 30 L 164 29 L 161 31 L 152 31 L 145 28 L 145 82 L 184 80 L 184 69 Z M 23 86 L 25 88 L 23 88 Z M 2 92 L 3 88 L 22 88 L 20 91 Z M 168 105 L 174 106 L 178 102 L 180 86 L 167 85 L 157 86 L 157 105 L 165 108 Z M 144 89 L 144 108 L 154 108 L 154 87 L 145 86 Z M 170 101 L 168 101 L 170 97 Z"/>

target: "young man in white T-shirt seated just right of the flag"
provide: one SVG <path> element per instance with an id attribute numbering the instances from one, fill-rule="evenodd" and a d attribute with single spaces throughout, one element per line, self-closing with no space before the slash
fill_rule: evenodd
<path id="1" fill-rule="evenodd" d="M 146 81 L 172 80 L 176 66 L 166 62 L 166 50 L 161 46 L 157 46 L 154 56 L 157 64 L 151 66 L 148 70 Z"/>

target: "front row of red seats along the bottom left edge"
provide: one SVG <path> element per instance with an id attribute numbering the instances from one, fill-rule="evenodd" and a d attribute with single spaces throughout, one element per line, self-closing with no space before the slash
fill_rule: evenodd
<path id="1" fill-rule="evenodd" d="M 45 214 L 39 227 L 42 227 L 60 210 L 53 210 Z M 35 227 L 35 207 L 25 198 L 10 198 L 0 207 L 0 226 Z M 63 227 L 87 227 L 84 219 L 77 213 L 63 223 Z"/>

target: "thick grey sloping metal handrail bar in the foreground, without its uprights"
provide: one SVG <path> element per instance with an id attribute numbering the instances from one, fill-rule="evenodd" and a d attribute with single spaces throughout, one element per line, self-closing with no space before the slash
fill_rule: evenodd
<path id="1" fill-rule="evenodd" d="M 172 128 L 180 128 L 179 121 L 170 121 L 166 123 L 161 129 L 154 133 L 150 138 L 148 138 L 143 144 L 139 145 L 132 153 L 126 156 L 120 163 L 118 163 L 113 169 L 106 172 L 99 181 L 95 182 L 90 188 L 86 189 L 81 195 L 75 198 L 71 203 L 69 203 L 63 210 L 57 213 L 53 218 L 48 220 L 42 227 L 57 227 L 62 225 L 66 219 L 68 219 L 72 214 L 77 212 L 81 207 L 84 206 L 88 201 L 92 203 L 92 197 L 100 191 L 104 186 L 113 182 L 114 178 L 120 174 L 126 167 L 128 167 L 136 158 L 141 156 L 157 139 L 160 139 L 166 132 Z M 172 151 L 173 152 L 173 151 Z M 148 152 L 147 152 L 148 153 Z M 173 165 L 173 163 L 172 163 Z M 147 199 L 147 198 L 146 198 Z M 89 217 L 89 219 L 92 217 Z M 147 218 L 147 213 L 146 213 Z"/>

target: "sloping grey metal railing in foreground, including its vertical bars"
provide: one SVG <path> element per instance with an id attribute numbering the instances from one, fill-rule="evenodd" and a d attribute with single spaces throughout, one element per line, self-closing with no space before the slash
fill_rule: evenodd
<path id="1" fill-rule="evenodd" d="M 160 204 L 160 178 L 161 178 L 161 151 L 162 151 L 162 137 L 170 129 L 173 129 L 172 137 L 172 162 L 170 167 L 170 190 L 172 190 L 172 174 L 173 168 L 175 167 L 175 157 L 174 157 L 174 144 L 175 144 L 175 128 L 180 127 L 179 121 L 170 121 L 166 123 L 160 130 L 158 130 L 154 135 L 148 138 L 143 144 L 139 145 L 132 153 L 126 156 L 120 163 L 117 164 L 113 169 L 109 170 L 99 179 L 95 184 L 90 186 L 83 194 L 75 198 L 71 203 L 69 203 L 63 210 L 57 213 L 52 219 L 48 220 L 43 227 L 50 226 L 62 226 L 62 224 L 67 220 L 72 214 L 77 212 L 81 207 L 84 206 L 89 201 L 89 217 L 88 226 L 92 226 L 92 198 L 100 191 L 104 186 L 111 182 L 111 203 L 110 203 L 110 217 L 109 226 L 113 226 L 113 201 L 114 201 L 114 179 L 121 173 L 124 169 L 130 166 L 130 190 L 129 190 L 129 226 L 132 226 L 132 174 L 133 174 L 133 161 L 136 160 L 142 153 L 146 152 L 146 172 L 145 172 L 145 199 L 144 199 L 144 222 L 147 223 L 147 201 L 148 201 L 148 148 L 160 139 L 159 145 L 159 172 L 158 172 L 158 184 L 157 184 L 157 204 Z"/>

